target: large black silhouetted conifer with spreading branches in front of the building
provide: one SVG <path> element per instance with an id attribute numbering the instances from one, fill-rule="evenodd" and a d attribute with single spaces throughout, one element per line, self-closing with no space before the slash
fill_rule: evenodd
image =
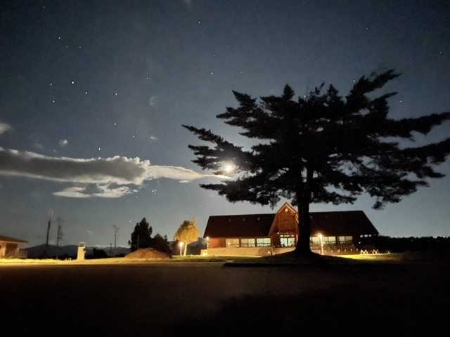
<path id="1" fill-rule="evenodd" d="M 233 91 L 239 106 L 227 107 L 217 118 L 243 128 L 242 136 L 261 143 L 246 151 L 205 128 L 184 126 L 214 145 L 188 145 L 197 156 L 195 164 L 236 177 L 200 186 L 231 202 L 274 207 L 281 197 L 290 199 L 300 214 L 295 251 L 311 254 L 309 204 L 353 203 L 367 192 L 375 197 L 373 208 L 380 209 L 427 186 L 426 178 L 444 176 L 434 166 L 449 154 L 450 138 L 419 147 L 403 147 L 399 141 L 414 140 L 413 131 L 428 134 L 450 119 L 450 112 L 388 118 L 387 99 L 396 93 L 373 98 L 373 91 L 398 76 L 394 70 L 363 76 L 345 99 L 331 85 L 323 91 L 323 84 L 297 100 L 286 85 L 282 95 L 262 97 L 259 103 Z M 230 167 L 233 170 L 227 172 Z"/>

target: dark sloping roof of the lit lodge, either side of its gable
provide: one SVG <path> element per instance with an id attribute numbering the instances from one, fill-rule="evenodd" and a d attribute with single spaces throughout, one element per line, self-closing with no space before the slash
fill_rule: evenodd
<path id="1" fill-rule="evenodd" d="M 203 237 L 268 237 L 275 215 L 276 213 L 210 216 Z M 314 212 L 310 216 L 311 235 L 378 234 L 364 211 Z"/>

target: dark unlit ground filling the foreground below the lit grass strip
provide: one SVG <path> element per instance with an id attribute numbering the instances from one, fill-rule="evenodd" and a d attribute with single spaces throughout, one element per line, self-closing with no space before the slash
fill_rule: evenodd
<path id="1" fill-rule="evenodd" d="M 0 325 L 8 336 L 449 336 L 449 275 L 447 263 L 1 265 Z"/>

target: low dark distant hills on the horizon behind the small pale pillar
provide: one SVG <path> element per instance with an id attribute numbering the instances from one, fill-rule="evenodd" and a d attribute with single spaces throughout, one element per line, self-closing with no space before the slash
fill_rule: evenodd
<path id="1" fill-rule="evenodd" d="M 91 246 L 86 247 L 86 258 L 89 256 L 93 256 L 92 249 L 103 249 L 105 253 L 110 255 L 110 247 L 109 246 Z M 57 258 L 59 257 L 72 257 L 75 258 L 77 256 L 78 245 L 70 244 L 68 246 L 55 246 L 53 244 L 49 244 L 48 247 L 45 244 L 39 244 L 38 246 L 33 246 L 25 249 L 27 251 L 27 258 Z M 117 247 L 113 248 L 112 256 L 124 254 L 127 255 L 129 253 L 129 248 L 127 247 Z"/>

